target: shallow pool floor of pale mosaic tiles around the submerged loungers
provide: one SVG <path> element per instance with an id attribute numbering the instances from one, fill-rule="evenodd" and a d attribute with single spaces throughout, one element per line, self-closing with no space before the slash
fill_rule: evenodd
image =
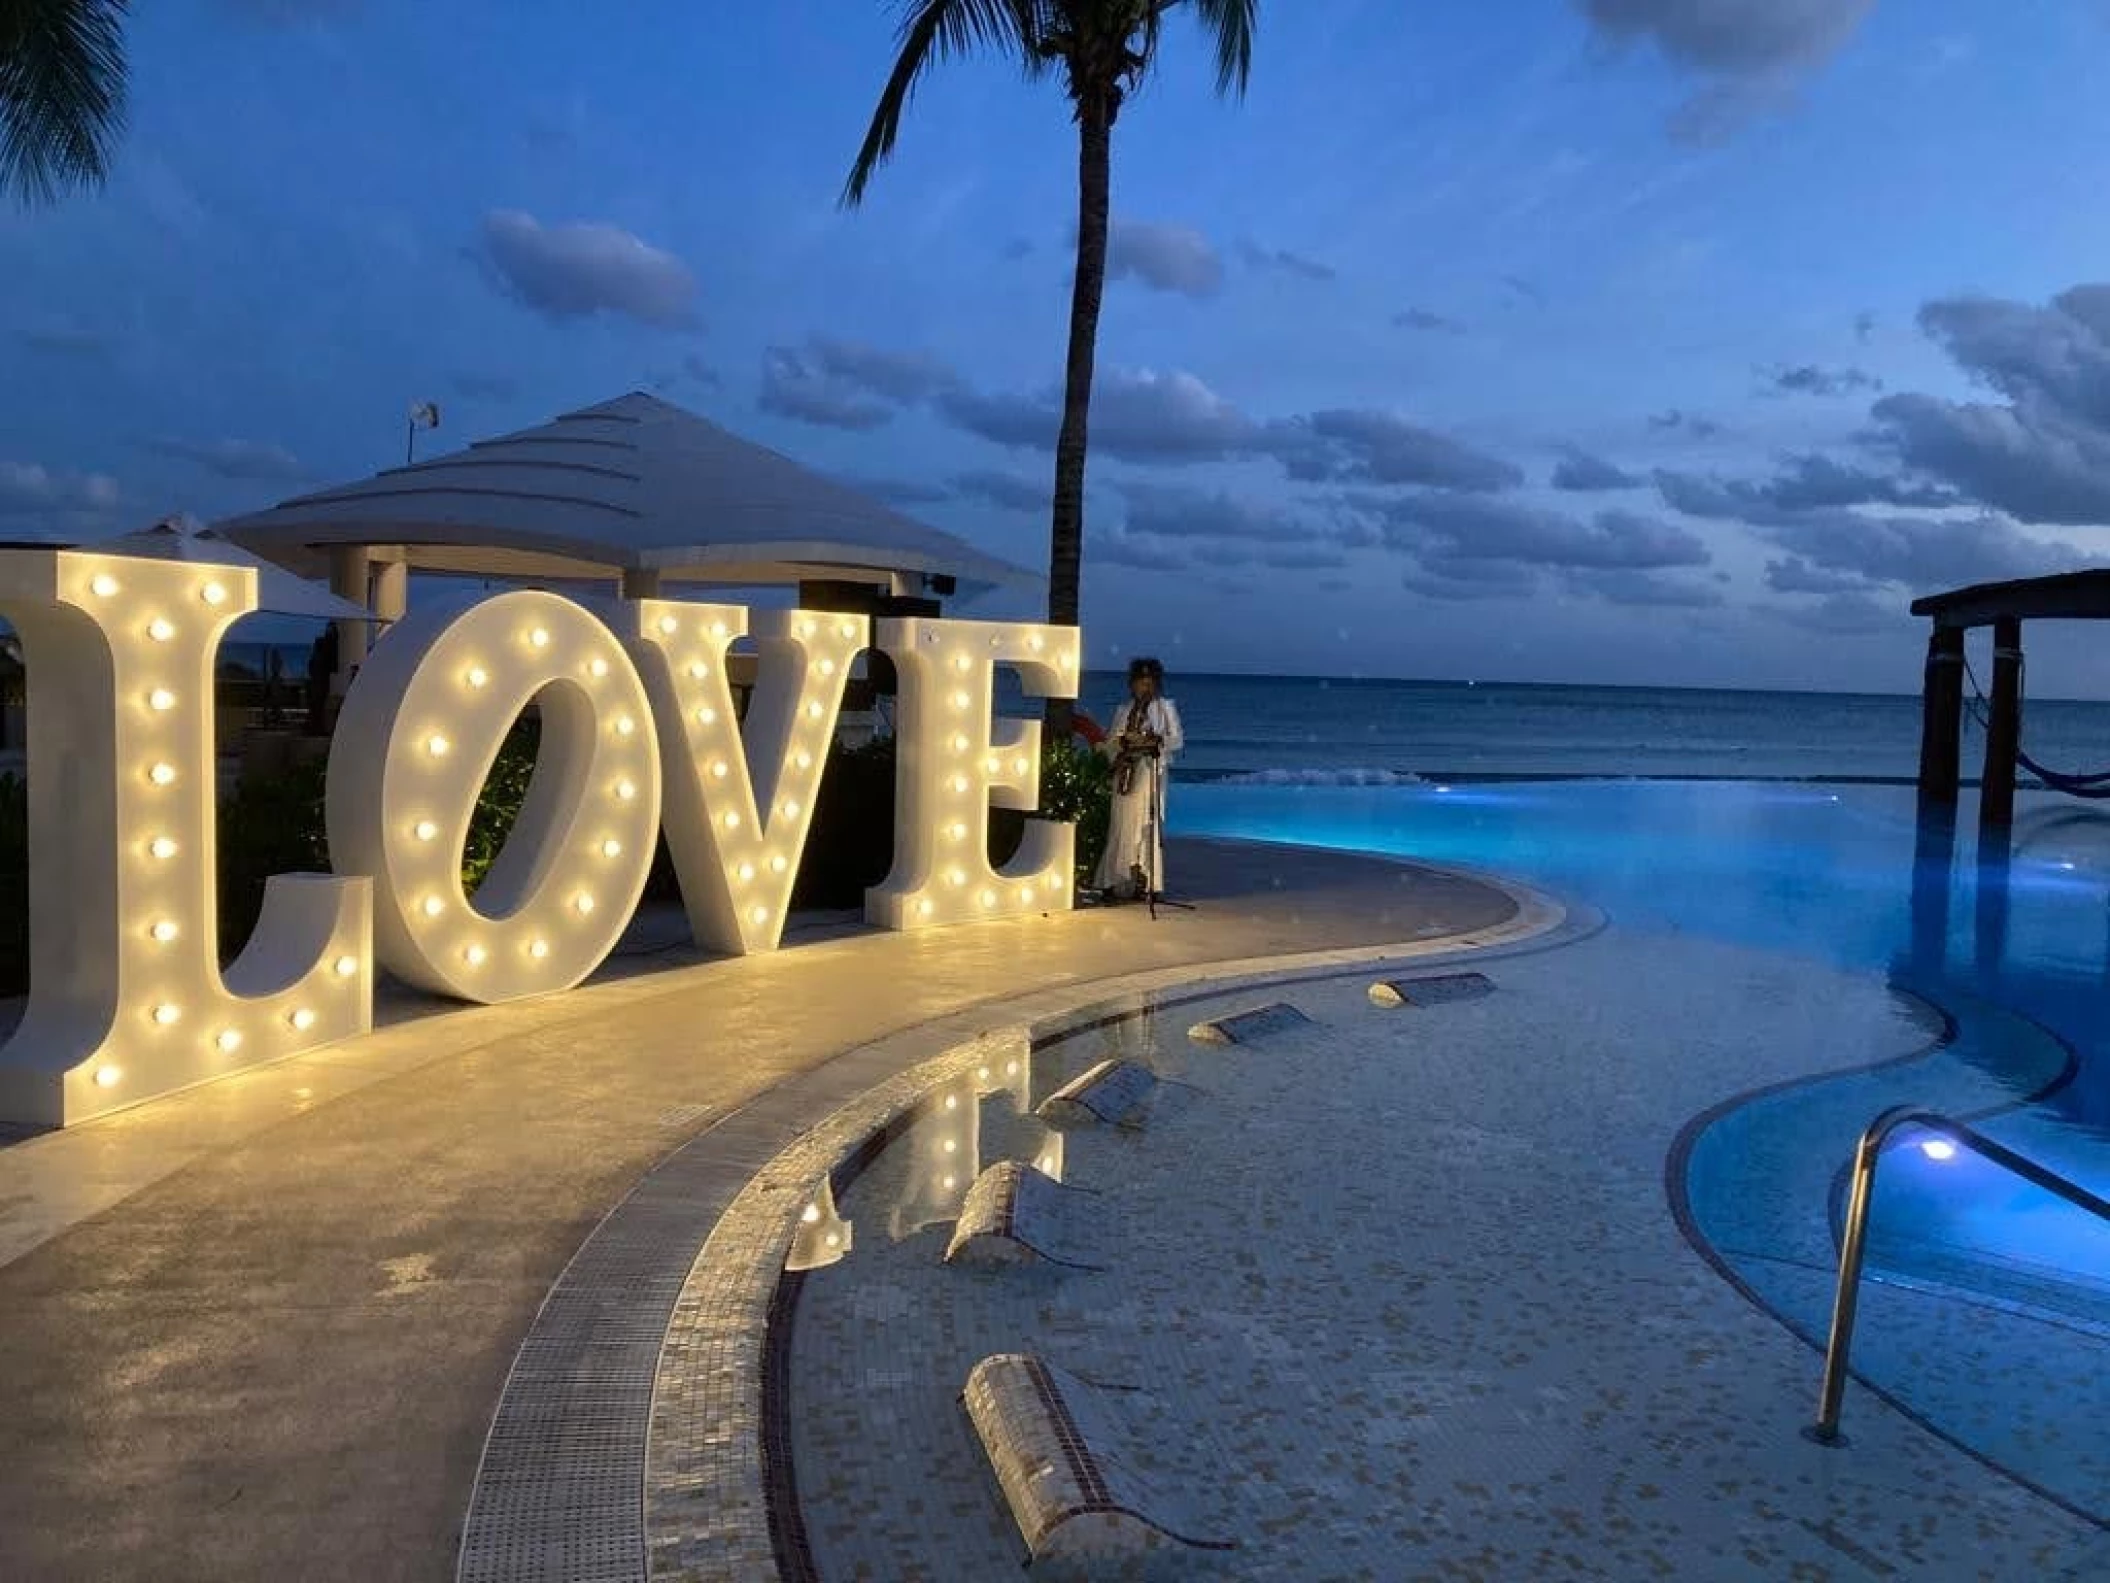
<path id="1" fill-rule="evenodd" d="M 1494 994 L 1426 1009 L 1372 1007 L 1361 975 L 1123 1022 L 888 1146 L 838 1205 L 855 1252 L 802 1277 L 791 1330 L 819 1575 L 1017 1577 L 958 1395 L 981 1357 L 1032 1351 L 1142 1387 L 1120 1393 L 1142 1471 L 1190 1530 L 1239 1543 L 1133 1577 L 2110 1577 L 2110 1534 L 1865 1391 L 1848 1448 L 1804 1442 L 1817 1355 L 1667 1205 L 1688 1119 L 1920 1049 L 1924 1007 L 1616 929 L 1483 971 Z M 1266 998 L 1312 1026 L 1186 1038 Z M 1106 1057 L 1163 1079 L 1146 1125 L 1053 1150 L 1032 1104 Z M 1080 1235 L 1106 1269 L 947 1269 L 958 1201 L 996 1159 L 1099 1195 Z M 1939 1349 L 1914 1361 L 1973 1387 Z M 2026 1357 L 1964 1368 L 1979 1389 L 2059 1387 Z"/>

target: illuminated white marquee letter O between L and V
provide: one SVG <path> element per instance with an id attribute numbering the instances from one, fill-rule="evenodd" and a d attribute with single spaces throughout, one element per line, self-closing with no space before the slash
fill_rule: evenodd
<path id="1" fill-rule="evenodd" d="M 528 703 L 534 779 L 475 899 L 462 851 Z M 329 859 L 373 876 L 373 950 L 462 1000 L 568 990 L 644 895 L 660 764 L 644 682 L 616 635 L 553 593 L 500 593 L 397 623 L 359 669 L 329 745 Z"/>

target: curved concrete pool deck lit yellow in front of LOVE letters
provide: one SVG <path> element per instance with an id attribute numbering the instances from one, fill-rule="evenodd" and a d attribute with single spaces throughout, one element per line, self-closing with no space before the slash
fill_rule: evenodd
<path id="1" fill-rule="evenodd" d="M 0 1148 L 4 1572 L 449 1577 L 544 1294 L 720 1119 L 977 1005 L 1515 916 L 1376 859 L 1182 842 L 1173 863 L 1201 912 L 667 952 Z M 753 1165 L 726 1161 L 734 1188 Z"/>

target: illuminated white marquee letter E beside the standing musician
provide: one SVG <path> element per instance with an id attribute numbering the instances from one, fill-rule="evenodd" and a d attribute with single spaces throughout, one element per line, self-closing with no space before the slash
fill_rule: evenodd
<path id="1" fill-rule="evenodd" d="M 1004 918 L 1070 905 L 1076 827 L 1030 819 L 1017 857 L 990 865 L 990 806 L 1040 804 L 1040 722 L 992 726 L 996 667 L 1028 699 L 1076 697 L 1076 627 L 994 621 L 882 621 L 901 678 L 895 720 L 895 867 L 865 895 L 886 929 Z"/>

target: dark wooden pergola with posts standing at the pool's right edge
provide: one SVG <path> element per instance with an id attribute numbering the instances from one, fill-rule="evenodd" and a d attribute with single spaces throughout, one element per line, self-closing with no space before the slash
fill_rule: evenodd
<path id="1" fill-rule="evenodd" d="M 1979 836 L 2007 842 L 2015 823 L 2015 760 L 2021 751 L 2021 623 L 2110 621 L 2110 570 L 1975 583 L 1912 602 L 1935 623 L 1926 640 L 1920 724 L 1920 813 L 1954 817 L 1962 758 L 1964 633 L 1992 627 L 1992 716 L 1979 781 Z"/>

